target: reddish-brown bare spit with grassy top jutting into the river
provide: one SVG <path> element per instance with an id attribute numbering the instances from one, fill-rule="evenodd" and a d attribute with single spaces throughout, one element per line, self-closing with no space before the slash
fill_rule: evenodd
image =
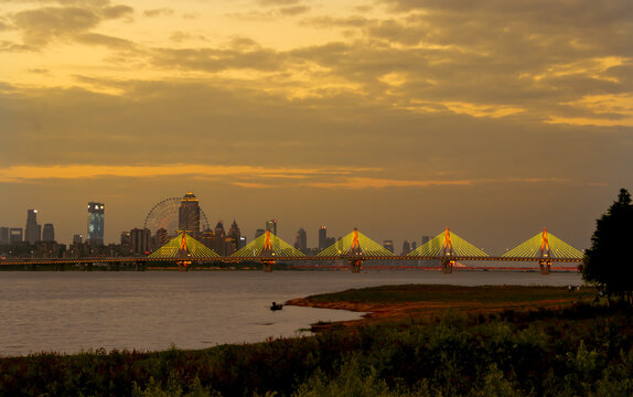
<path id="1" fill-rule="evenodd" d="M 592 302 L 597 290 L 580 287 L 478 286 L 449 285 L 382 286 L 323 293 L 292 299 L 286 304 L 363 312 L 362 320 L 319 323 L 314 332 L 330 328 L 361 325 L 389 320 L 429 321 L 448 310 L 461 314 L 482 314 L 505 310 L 562 309 Z"/>

